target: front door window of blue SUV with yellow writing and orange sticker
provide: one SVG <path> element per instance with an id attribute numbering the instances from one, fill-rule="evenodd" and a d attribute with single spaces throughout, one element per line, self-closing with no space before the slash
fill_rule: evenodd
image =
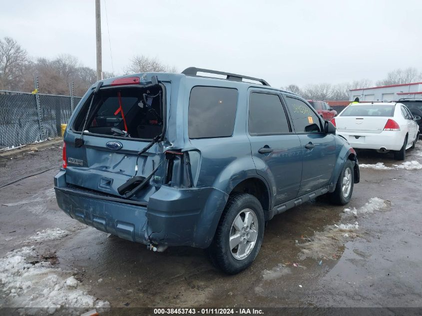
<path id="1" fill-rule="evenodd" d="M 286 101 L 297 133 L 321 132 L 319 115 L 315 114 L 308 104 L 288 96 L 286 96 Z"/>

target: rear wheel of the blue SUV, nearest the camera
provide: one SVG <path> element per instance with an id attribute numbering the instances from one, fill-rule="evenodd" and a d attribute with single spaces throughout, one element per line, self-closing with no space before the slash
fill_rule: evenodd
<path id="1" fill-rule="evenodd" d="M 248 268 L 264 238 L 264 211 L 258 199 L 246 193 L 230 196 L 207 253 L 213 265 L 227 274 Z"/>

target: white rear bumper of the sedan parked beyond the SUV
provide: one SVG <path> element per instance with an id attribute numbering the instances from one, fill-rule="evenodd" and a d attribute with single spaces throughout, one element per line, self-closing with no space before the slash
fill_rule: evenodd
<path id="1" fill-rule="evenodd" d="M 400 150 L 405 135 L 400 131 L 382 131 L 381 133 L 344 132 L 337 130 L 338 135 L 345 137 L 353 148 Z M 360 136 L 356 138 L 356 136 Z"/>

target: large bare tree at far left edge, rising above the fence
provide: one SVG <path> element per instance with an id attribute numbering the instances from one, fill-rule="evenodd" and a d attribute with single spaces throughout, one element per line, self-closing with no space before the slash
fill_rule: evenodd
<path id="1" fill-rule="evenodd" d="M 20 85 L 27 62 L 26 50 L 14 39 L 0 39 L 0 89 L 12 90 Z"/>

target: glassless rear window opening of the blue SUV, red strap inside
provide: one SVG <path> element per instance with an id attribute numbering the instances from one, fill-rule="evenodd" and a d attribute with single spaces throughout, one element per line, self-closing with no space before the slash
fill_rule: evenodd
<path id="1" fill-rule="evenodd" d="M 99 90 L 88 112 L 90 96 L 73 126 L 84 133 L 152 139 L 163 131 L 163 91 L 155 88 L 111 88 Z"/>

